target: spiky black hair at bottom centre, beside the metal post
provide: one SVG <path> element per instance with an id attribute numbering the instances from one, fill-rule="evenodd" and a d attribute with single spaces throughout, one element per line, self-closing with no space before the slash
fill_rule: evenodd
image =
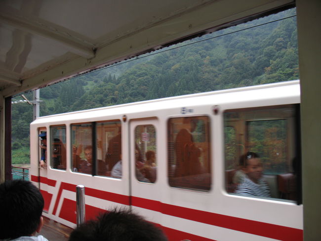
<path id="1" fill-rule="evenodd" d="M 130 211 L 116 209 L 75 229 L 69 241 L 167 241 L 161 229 Z"/>

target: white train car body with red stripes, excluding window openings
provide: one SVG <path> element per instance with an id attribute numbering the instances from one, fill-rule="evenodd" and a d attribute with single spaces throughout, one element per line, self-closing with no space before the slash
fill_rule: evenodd
<path id="1" fill-rule="evenodd" d="M 225 183 L 224 111 L 297 103 L 299 81 L 290 81 L 40 117 L 31 123 L 30 175 L 45 199 L 43 215 L 76 227 L 76 186 L 84 185 L 87 218 L 102 210 L 129 207 L 159 225 L 171 241 L 303 240 L 302 205 L 231 194 Z M 172 187 L 168 181 L 168 120 L 189 116 L 206 116 L 209 120 L 211 183 L 205 191 Z M 71 125 L 108 120 L 121 122 L 122 179 L 73 171 Z M 66 126 L 66 168 L 52 168 L 48 160 L 47 169 L 40 169 L 38 135 L 45 130 L 49 140 L 50 127 L 57 125 Z M 133 132 L 137 125 L 153 125 L 157 133 L 154 183 L 135 177 Z M 47 156 L 52 155 L 50 151 L 48 148 Z"/>

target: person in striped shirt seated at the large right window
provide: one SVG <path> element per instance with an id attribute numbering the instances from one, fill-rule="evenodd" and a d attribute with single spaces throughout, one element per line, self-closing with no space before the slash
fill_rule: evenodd
<path id="1" fill-rule="evenodd" d="M 245 177 L 235 193 L 248 196 L 271 197 L 269 186 L 262 179 L 263 167 L 259 155 L 255 152 L 247 152 L 241 156 L 240 164 L 242 165 Z"/>

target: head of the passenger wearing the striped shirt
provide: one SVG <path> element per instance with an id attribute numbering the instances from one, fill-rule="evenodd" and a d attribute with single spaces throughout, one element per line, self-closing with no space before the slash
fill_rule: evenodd
<path id="1" fill-rule="evenodd" d="M 248 151 L 240 158 L 243 172 L 254 183 L 262 178 L 263 168 L 260 157 L 255 152 Z"/>

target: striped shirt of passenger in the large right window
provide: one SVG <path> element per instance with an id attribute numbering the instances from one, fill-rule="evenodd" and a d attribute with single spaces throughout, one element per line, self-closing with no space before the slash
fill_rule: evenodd
<path id="1" fill-rule="evenodd" d="M 262 196 L 271 197 L 269 186 L 263 179 L 259 179 L 257 184 L 253 183 L 246 176 L 243 182 L 238 186 L 235 193 L 245 195 L 245 196 Z"/>

